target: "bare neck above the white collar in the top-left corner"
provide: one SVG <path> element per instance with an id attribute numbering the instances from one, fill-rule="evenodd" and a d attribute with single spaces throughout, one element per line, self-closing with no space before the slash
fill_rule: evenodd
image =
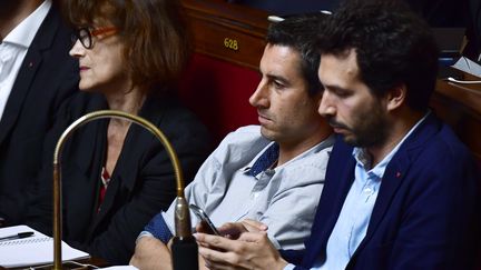
<path id="1" fill-rule="evenodd" d="M 29 17 L 43 0 L 2 0 L 0 3 L 0 37 L 7 37 L 20 22 Z"/>

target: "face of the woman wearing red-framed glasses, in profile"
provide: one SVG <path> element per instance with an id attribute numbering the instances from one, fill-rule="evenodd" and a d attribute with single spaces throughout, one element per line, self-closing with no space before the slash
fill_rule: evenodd
<path id="1" fill-rule="evenodd" d="M 78 39 L 70 50 L 70 56 L 79 60 L 79 89 L 101 93 L 128 90 L 130 77 L 126 71 L 124 43 L 117 30 L 109 23 L 95 24 L 88 28 L 88 32 L 79 33 L 87 47 L 86 36 L 90 36 L 90 49 Z"/>

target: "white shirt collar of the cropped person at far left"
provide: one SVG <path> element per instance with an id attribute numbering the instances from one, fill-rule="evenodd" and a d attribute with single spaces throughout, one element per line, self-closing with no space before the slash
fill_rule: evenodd
<path id="1" fill-rule="evenodd" d="M 43 1 L 29 17 L 27 17 L 20 24 L 13 28 L 9 34 L 3 39 L 3 42 L 13 43 L 24 48 L 29 48 L 41 22 L 47 17 L 51 7 L 51 0 Z"/>

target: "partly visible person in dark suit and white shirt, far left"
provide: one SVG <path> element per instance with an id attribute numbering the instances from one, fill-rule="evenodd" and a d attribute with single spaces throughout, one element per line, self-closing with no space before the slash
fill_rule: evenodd
<path id="1" fill-rule="evenodd" d="M 78 61 L 68 54 L 70 34 L 55 1 L 0 2 L 0 220 L 4 226 L 21 221 L 41 167 L 45 134 L 60 103 L 78 89 Z"/>

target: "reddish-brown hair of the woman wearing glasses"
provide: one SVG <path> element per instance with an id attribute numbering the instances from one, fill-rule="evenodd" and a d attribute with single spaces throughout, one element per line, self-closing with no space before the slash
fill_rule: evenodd
<path id="1" fill-rule="evenodd" d="M 189 59 L 192 36 L 178 0 L 65 0 L 61 6 L 73 27 L 102 19 L 119 30 L 135 86 L 174 84 Z"/>

